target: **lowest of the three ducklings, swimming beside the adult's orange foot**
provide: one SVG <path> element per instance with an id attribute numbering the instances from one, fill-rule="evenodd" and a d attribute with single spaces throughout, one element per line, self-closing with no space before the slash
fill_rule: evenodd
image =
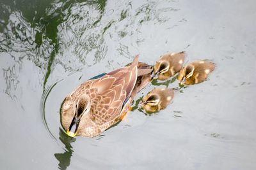
<path id="1" fill-rule="evenodd" d="M 147 112 L 163 110 L 170 104 L 174 96 L 173 89 L 155 88 L 147 94 L 140 103 L 140 106 Z"/>

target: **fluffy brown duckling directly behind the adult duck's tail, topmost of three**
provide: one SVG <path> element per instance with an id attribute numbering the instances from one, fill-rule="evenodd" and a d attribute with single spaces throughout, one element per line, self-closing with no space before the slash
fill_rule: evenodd
<path id="1" fill-rule="evenodd" d="M 154 74 L 158 76 L 158 80 L 166 80 L 179 72 L 184 58 L 185 52 L 164 54 L 154 66 Z"/>

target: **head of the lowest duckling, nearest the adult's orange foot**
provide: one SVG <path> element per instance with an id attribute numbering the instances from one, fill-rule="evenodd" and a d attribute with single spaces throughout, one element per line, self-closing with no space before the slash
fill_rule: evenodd
<path id="1" fill-rule="evenodd" d="M 148 112 L 156 112 L 159 108 L 160 96 L 158 94 L 147 94 L 140 103 L 140 106 Z"/>

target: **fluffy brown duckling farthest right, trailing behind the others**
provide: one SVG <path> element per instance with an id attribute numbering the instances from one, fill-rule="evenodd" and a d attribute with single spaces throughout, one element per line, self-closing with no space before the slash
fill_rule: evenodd
<path id="1" fill-rule="evenodd" d="M 180 84 L 193 85 L 204 81 L 208 74 L 214 71 L 215 64 L 210 61 L 198 60 L 191 62 L 180 70 L 178 80 Z"/>

